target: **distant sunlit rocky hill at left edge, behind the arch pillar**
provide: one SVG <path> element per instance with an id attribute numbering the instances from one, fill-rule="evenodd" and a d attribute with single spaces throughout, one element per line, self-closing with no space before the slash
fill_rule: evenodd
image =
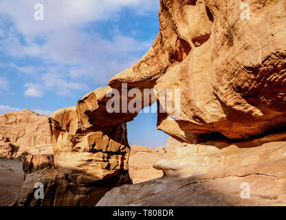
<path id="1" fill-rule="evenodd" d="M 2 157 L 50 153 L 52 153 L 50 126 L 45 115 L 25 109 L 0 116 Z"/>

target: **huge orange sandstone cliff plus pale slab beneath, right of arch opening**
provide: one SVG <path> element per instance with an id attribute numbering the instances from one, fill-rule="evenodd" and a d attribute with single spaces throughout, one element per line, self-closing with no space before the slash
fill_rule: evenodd
<path id="1" fill-rule="evenodd" d="M 157 94 L 157 128 L 188 145 L 97 206 L 285 206 L 286 1 L 160 3 L 153 47 L 109 86 L 180 89 L 176 120 Z"/>

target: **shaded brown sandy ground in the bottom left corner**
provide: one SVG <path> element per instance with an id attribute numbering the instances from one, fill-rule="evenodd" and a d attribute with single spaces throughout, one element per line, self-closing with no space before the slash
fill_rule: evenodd
<path id="1" fill-rule="evenodd" d="M 21 161 L 0 159 L 0 206 L 9 206 L 18 199 L 23 181 Z"/>

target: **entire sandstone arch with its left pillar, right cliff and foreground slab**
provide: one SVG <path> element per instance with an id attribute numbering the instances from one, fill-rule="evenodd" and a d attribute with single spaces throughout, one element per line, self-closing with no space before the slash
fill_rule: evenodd
<path id="1" fill-rule="evenodd" d="M 18 205 L 95 205 L 129 183 L 125 123 L 137 111 L 107 108 L 115 89 L 120 110 L 133 104 L 124 86 L 155 89 L 135 96 L 137 110 L 157 98 L 157 128 L 185 144 L 154 165 L 164 177 L 114 188 L 98 206 L 285 205 L 286 0 L 247 3 L 249 19 L 240 1 L 160 0 L 159 34 L 140 61 L 51 115 L 54 152 L 26 158 Z M 168 89 L 180 89 L 179 117 L 161 100 Z M 32 197 L 38 181 L 47 199 Z"/>

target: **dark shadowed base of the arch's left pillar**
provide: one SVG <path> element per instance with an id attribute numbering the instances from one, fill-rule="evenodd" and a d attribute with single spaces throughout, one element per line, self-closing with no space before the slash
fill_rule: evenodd
<path id="1" fill-rule="evenodd" d="M 54 165 L 54 155 L 29 155 L 23 169 L 25 182 L 17 206 L 95 206 L 106 192 L 128 183 L 129 176 L 121 173 L 101 179 L 86 173 L 67 173 Z M 94 174 L 100 169 L 94 170 Z M 43 184 L 43 199 L 35 199 L 35 184 Z"/>

